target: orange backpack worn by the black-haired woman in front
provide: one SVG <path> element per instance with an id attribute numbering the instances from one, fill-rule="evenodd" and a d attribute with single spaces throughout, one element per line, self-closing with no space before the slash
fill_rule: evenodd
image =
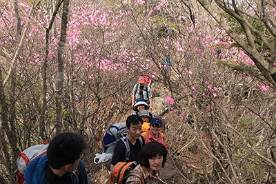
<path id="1" fill-rule="evenodd" d="M 128 176 L 137 176 L 141 183 L 145 184 L 145 178 L 141 172 L 135 170 L 138 165 L 136 161 L 133 162 L 119 162 L 117 163 L 109 175 L 110 184 L 123 184 L 128 180 Z"/>

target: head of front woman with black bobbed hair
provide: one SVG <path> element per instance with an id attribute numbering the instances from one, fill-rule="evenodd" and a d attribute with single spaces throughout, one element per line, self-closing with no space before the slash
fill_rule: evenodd
<path id="1" fill-rule="evenodd" d="M 157 141 L 144 145 L 138 155 L 138 163 L 147 169 L 159 170 L 167 161 L 168 151 Z"/>

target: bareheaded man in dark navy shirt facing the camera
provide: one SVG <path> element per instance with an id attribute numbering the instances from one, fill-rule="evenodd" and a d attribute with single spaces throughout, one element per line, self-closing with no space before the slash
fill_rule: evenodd
<path id="1" fill-rule="evenodd" d="M 124 141 L 120 140 L 115 147 L 110 165 L 110 170 L 112 170 L 114 165 L 116 165 L 118 162 L 138 161 L 138 154 L 141 148 L 145 145 L 145 140 L 143 136 L 141 136 L 142 124 L 143 120 L 140 118 L 140 116 L 128 116 L 128 119 L 126 119 L 126 130 L 128 131 L 126 139 L 130 145 L 130 154 L 128 156 L 128 159 L 126 160 L 126 145 Z"/>

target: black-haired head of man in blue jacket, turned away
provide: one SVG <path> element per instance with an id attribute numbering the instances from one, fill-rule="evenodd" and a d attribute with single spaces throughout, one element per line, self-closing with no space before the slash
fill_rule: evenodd
<path id="1" fill-rule="evenodd" d="M 68 172 L 72 172 L 79 165 L 81 153 L 85 149 L 86 144 L 81 136 L 72 132 L 63 132 L 50 141 L 47 159 L 53 169 L 59 170 L 63 165 L 68 165 Z M 73 169 L 74 167 L 76 168 Z"/>

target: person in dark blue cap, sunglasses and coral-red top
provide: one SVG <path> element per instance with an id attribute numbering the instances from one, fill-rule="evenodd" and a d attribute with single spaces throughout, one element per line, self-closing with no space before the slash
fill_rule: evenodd
<path id="1" fill-rule="evenodd" d="M 168 147 L 168 143 L 165 141 L 165 135 L 160 132 L 162 121 L 159 118 L 153 118 L 150 121 L 150 130 L 143 132 L 141 135 L 144 136 L 145 143 L 150 143 L 152 141 L 157 141 L 162 145 Z"/>

